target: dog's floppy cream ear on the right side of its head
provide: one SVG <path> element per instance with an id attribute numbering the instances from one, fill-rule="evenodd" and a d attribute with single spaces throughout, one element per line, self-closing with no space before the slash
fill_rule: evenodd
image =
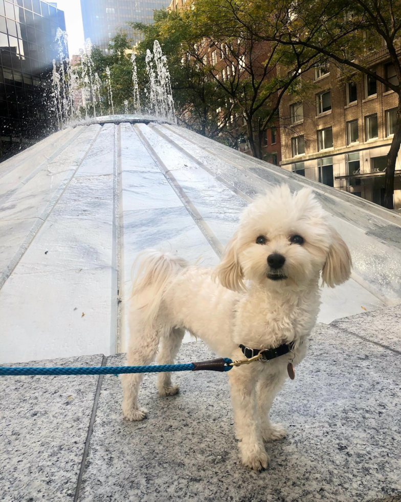
<path id="1" fill-rule="evenodd" d="M 338 232 L 331 229 L 332 242 L 328 250 L 326 263 L 322 269 L 323 285 L 335 287 L 347 281 L 351 275 L 352 260 L 347 244 Z"/>

